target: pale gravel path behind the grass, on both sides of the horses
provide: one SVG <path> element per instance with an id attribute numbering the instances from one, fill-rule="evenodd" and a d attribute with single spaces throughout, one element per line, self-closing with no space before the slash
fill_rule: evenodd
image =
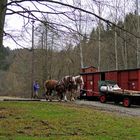
<path id="1" fill-rule="evenodd" d="M 45 101 L 45 99 L 39 100 L 39 99 L 28 99 L 28 98 L 15 98 L 15 97 L 5 97 L 0 96 L 0 101 Z M 70 102 L 69 102 L 70 103 Z M 82 106 L 89 106 L 94 107 L 99 110 L 103 111 L 110 111 L 114 113 L 119 113 L 121 115 L 129 115 L 129 116 L 139 116 L 140 117 L 140 106 L 134 106 L 132 105 L 130 108 L 123 107 L 120 105 L 115 105 L 114 103 L 100 103 L 99 101 L 85 101 L 85 100 L 76 100 L 75 103 L 77 105 Z"/>

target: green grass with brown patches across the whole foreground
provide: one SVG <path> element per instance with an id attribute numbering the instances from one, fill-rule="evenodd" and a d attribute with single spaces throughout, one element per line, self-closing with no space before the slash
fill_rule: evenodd
<path id="1" fill-rule="evenodd" d="M 57 102 L 0 102 L 0 140 L 140 140 L 140 117 Z"/>

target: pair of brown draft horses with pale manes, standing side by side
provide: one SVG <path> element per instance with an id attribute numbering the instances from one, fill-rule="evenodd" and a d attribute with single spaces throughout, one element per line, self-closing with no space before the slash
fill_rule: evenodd
<path id="1" fill-rule="evenodd" d="M 75 100 L 76 94 L 80 93 L 80 89 L 83 87 L 84 82 L 81 76 L 65 76 L 60 81 L 47 80 L 44 83 L 46 99 L 51 101 L 52 92 L 55 91 L 59 100 L 64 98 L 67 101 L 67 96 L 70 100 Z"/>

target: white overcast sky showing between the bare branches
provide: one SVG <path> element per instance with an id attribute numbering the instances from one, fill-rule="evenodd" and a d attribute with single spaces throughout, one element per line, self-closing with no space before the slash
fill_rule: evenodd
<path id="1" fill-rule="evenodd" d="M 73 1 L 72 0 L 60 0 L 60 1 L 64 1 L 65 3 L 69 3 L 72 4 Z M 74 0 L 74 2 L 76 2 L 78 0 Z M 103 5 L 101 5 L 101 16 L 106 18 L 106 19 L 110 19 L 110 20 L 114 20 L 114 15 L 116 14 L 116 10 L 115 10 L 115 6 L 114 6 L 114 1 L 115 0 L 102 0 Z M 122 2 L 127 1 L 127 5 L 126 5 L 126 9 L 123 8 L 124 4 Z M 82 3 L 82 7 L 88 11 L 92 11 L 94 13 L 96 13 L 97 15 L 99 15 L 99 8 L 97 5 L 93 5 L 93 1 L 92 0 L 87 0 L 85 3 L 85 0 L 81 0 Z M 118 7 L 118 13 L 117 13 L 117 18 L 120 18 L 123 16 L 123 10 L 127 11 L 131 11 L 132 10 L 132 1 L 131 0 L 117 0 L 117 7 Z M 51 8 L 46 9 L 46 6 L 43 5 L 38 5 L 37 3 L 34 5 L 30 2 L 25 2 L 23 4 L 24 7 L 26 7 L 27 9 L 40 9 L 40 10 L 44 10 L 44 11 L 49 11 L 51 12 L 51 8 L 53 7 L 52 4 L 49 3 L 49 6 Z M 71 11 L 70 8 L 64 8 L 61 6 L 57 6 L 57 10 L 58 11 Z M 76 6 L 76 5 L 74 5 Z M 17 6 L 9 6 L 8 8 L 13 9 L 13 10 L 22 10 L 21 8 L 17 7 Z M 53 11 L 53 10 L 52 10 Z M 9 11 L 7 11 L 9 12 Z M 25 14 L 27 15 L 27 14 Z M 35 14 L 38 18 L 42 17 L 41 14 Z M 82 14 L 83 15 L 83 14 Z M 84 15 L 83 15 L 84 16 Z M 98 19 L 91 16 L 88 17 L 89 18 L 89 23 L 83 23 L 82 29 L 83 32 L 85 30 L 85 32 L 90 29 L 93 28 L 94 26 L 97 26 L 98 23 Z M 92 19 L 91 19 L 92 18 Z M 69 27 L 72 27 L 73 25 L 71 24 L 71 22 L 69 22 L 69 18 L 66 18 L 64 16 L 54 16 L 51 15 L 50 20 L 52 22 L 58 22 L 58 23 L 62 23 L 65 25 L 68 25 Z M 91 25 L 91 21 L 92 21 L 92 25 Z M 27 24 L 28 23 L 28 24 Z M 26 31 L 24 26 L 26 25 Z M 38 26 L 39 22 L 35 22 L 34 26 L 35 28 Z M 73 28 L 73 27 L 72 27 Z M 16 40 L 16 42 L 18 44 L 16 44 L 13 39 L 11 39 L 9 36 L 4 37 L 4 46 L 5 47 L 10 47 L 10 49 L 16 49 L 16 48 L 31 48 L 32 47 L 32 24 L 31 24 L 31 20 L 25 20 L 23 19 L 23 17 L 14 14 L 14 15 L 7 15 L 6 19 L 5 19 L 5 32 L 9 33 L 14 40 Z"/>

